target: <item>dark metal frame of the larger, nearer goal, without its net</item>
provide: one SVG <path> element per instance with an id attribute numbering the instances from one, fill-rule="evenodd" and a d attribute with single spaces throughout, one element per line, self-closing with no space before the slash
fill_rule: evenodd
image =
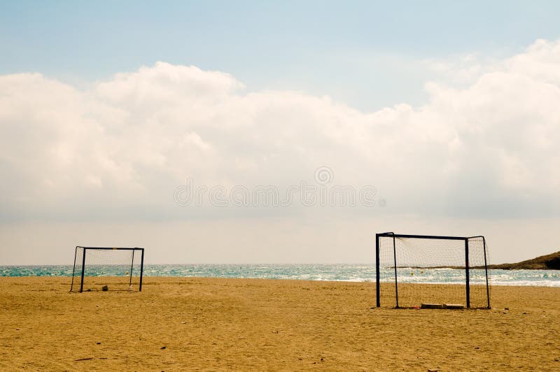
<path id="1" fill-rule="evenodd" d="M 376 306 L 381 307 L 380 299 L 380 270 L 379 270 L 379 238 L 393 238 L 393 266 L 395 269 L 395 301 L 396 308 L 398 308 L 398 278 L 397 278 L 397 251 L 395 245 L 395 238 L 416 238 L 416 239 L 439 239 L 439 240 L 452 240 L 452 241 L 464 241 L 465 242 L 465 299 L 467 308 L 470 308 L 470 280 L 469 280 L 469 270 L 470 266 L 468 263 L 468 241 L 472 238 L 482 238 L 482 244 L 484 248 L 484 274 L 486 276 L 486 299 L 487 308 L 490 308 L 490 285 L 488 281 L 488 262 L 486 258 L 486 239 L 482 235 L 478 236 L 433 236 L 433 235 L 406 235 L 406 234 L 394 234 L 393 232 L 386 232 L 381 234 L 375 234 L 375 296 L 376 296 Z"/>

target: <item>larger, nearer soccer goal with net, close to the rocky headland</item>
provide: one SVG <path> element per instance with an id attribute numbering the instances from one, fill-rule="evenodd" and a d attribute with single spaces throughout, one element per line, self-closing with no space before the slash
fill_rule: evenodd
<path id="1" fill-rule="evenodd" d="M 377 307 L 490 308 L 484 236 L 375 236 Z"/>

